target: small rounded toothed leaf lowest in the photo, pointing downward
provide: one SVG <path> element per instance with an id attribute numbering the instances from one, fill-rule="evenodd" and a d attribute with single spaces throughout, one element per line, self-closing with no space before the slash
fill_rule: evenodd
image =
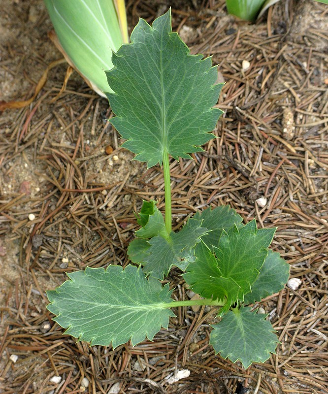
<path id="1" fill-rule="evenodd" d="M 241 361 L 247 369 L 252 362 L 264 362 L 276 351 L 278 338 L 267 315 L 249 307 L 234 308 L 213 325 L 210 344 L 215 353 L 232 362 Z"/>

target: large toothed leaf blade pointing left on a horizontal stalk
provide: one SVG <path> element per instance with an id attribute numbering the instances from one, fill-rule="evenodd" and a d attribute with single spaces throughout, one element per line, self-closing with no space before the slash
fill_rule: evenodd
<path id="1" fill-rule="evenodd" d="M 115 348 L 130 339 L 133 346 L 145 337 L 152 340 L 174 316 L 165 306 L 173 301 L 168 285 L 147 280 L 136 266 L 87 267 L 67 275 L 70 280 L 47 292 L 47 308 L 66 334 L 91 345 Z"/>

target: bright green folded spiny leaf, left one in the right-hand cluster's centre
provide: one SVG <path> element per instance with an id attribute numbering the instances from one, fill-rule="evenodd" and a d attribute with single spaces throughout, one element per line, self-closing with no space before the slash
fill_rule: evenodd
<path id="1" fill-rule="evenodd" d="M 237 301 L 240 286 L 231 278 L 221 275 L 218 260 L 203 242 L 199 242 L 195 254 L 197 260 L 188 265 L 184 279 L 195 293 L 204 298 L 227 300 L 222 312 L 229 310 Z"/>

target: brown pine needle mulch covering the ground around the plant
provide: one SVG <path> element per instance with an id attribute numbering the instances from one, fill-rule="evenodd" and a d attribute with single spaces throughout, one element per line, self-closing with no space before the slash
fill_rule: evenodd
<path id="1" fill-rule="evenodd" d="M 279 2 L 267 21 L 249 25 L 227 16 L 224 1 L 195 4 L 172 9 L 174 29 L 187 34 L 193 53 L 220 63 L 227 83 L 218 106 L 226 113 L 206 152 L 171 163 L 173 227 L 219 204 L 278 227 L 273 249 L 301 283 L 261 303 L 278 332 L 277 354 L 247 371 L 215 356 L 215 311 L 204 307 L 180 308 L 154 342 L 114 351 L 75 343 L 52 322 L 45 290 L 87 265 L 128 264 L 133 211 L 143 198 L 164 208 L 161 169 L 131 162 L 104 121 L 112 116 L 104 99 L 76 76 L 53 100 L 65 75 L 58 66 L 30 106 L 0 117 L 3 394 L 328 393 L 327 7 Z M 131 26 L 138 16 L 156 17 L 150 0 L 128 11 Z M 179 272 L 169 279 L 187 299 Z M 167 385 L 180 369 L 190 376 Z"/>

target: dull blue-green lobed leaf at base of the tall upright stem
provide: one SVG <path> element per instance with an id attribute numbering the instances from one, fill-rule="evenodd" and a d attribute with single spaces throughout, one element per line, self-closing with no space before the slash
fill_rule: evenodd
<path id="1" fill-rule="evenodd" d="M 194 247 L 200 237 L 207 234 L 207 229 L 201 226 L 201 220 L 189 219 L 181 231 L 172 231 L 167 239 L 160 235 L 150 239 L 142 263 L 144 272 L 163 280 L 173 265 L 184 271 L 196 259 Z"/>

